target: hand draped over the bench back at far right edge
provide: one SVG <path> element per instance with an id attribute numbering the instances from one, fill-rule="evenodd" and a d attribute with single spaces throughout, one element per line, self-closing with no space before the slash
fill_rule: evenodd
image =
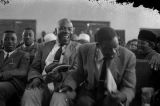
<path id="1" fill-rule="evenodd" d="M 149 64 L 150 64 L 151 68 L 154 69 L 155 71 L 160 69 L 160 54 L 157 53 L 157 54 L 153 55 L 151 60 L 149 61 Z"/>

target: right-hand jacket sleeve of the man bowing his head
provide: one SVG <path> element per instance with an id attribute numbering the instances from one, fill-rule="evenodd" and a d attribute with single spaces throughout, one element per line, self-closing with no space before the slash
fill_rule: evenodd
<path id="1" fill-rule="evenodd" d="M 122 84 L 120 87 L 120 92 L 124 94 L 127 98 L 127 102 L 131 102 L 135 96 L 135 86 L 136 86 L 136 57 L 132 54 L 127 62 L 127 66 L 122 78 Z"/>

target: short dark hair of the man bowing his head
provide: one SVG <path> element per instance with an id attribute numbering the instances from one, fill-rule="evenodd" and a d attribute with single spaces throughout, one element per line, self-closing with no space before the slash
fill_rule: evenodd
<path id="1" fill-rule="evenodd" d="M 117 37 L 116 31 L 111 27 L 102 27 L 95 34 L 95 41 L 98 43 L 111 41 Z"/>

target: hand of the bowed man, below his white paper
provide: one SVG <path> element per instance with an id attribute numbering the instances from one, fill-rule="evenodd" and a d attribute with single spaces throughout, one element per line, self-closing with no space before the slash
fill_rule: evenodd
<path id="1" fill-rule="evenodd" d="M 109 96 L 113 102 L 118 104 L 125 103 L 127 100 L 127 97 L 119 91 L 110 93 Z"/>

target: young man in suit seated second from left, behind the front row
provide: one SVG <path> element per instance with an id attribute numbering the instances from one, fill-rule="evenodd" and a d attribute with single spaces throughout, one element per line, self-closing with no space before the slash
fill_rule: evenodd
<path id="1" fill-rule="evenodd" d="M 31 28 L 25 28 L 22 33 L 23 43 L 18 49 L 30 54 L 30 63 L 32 63 L 40 45 L 34 42 L 34 31 Z"/>

